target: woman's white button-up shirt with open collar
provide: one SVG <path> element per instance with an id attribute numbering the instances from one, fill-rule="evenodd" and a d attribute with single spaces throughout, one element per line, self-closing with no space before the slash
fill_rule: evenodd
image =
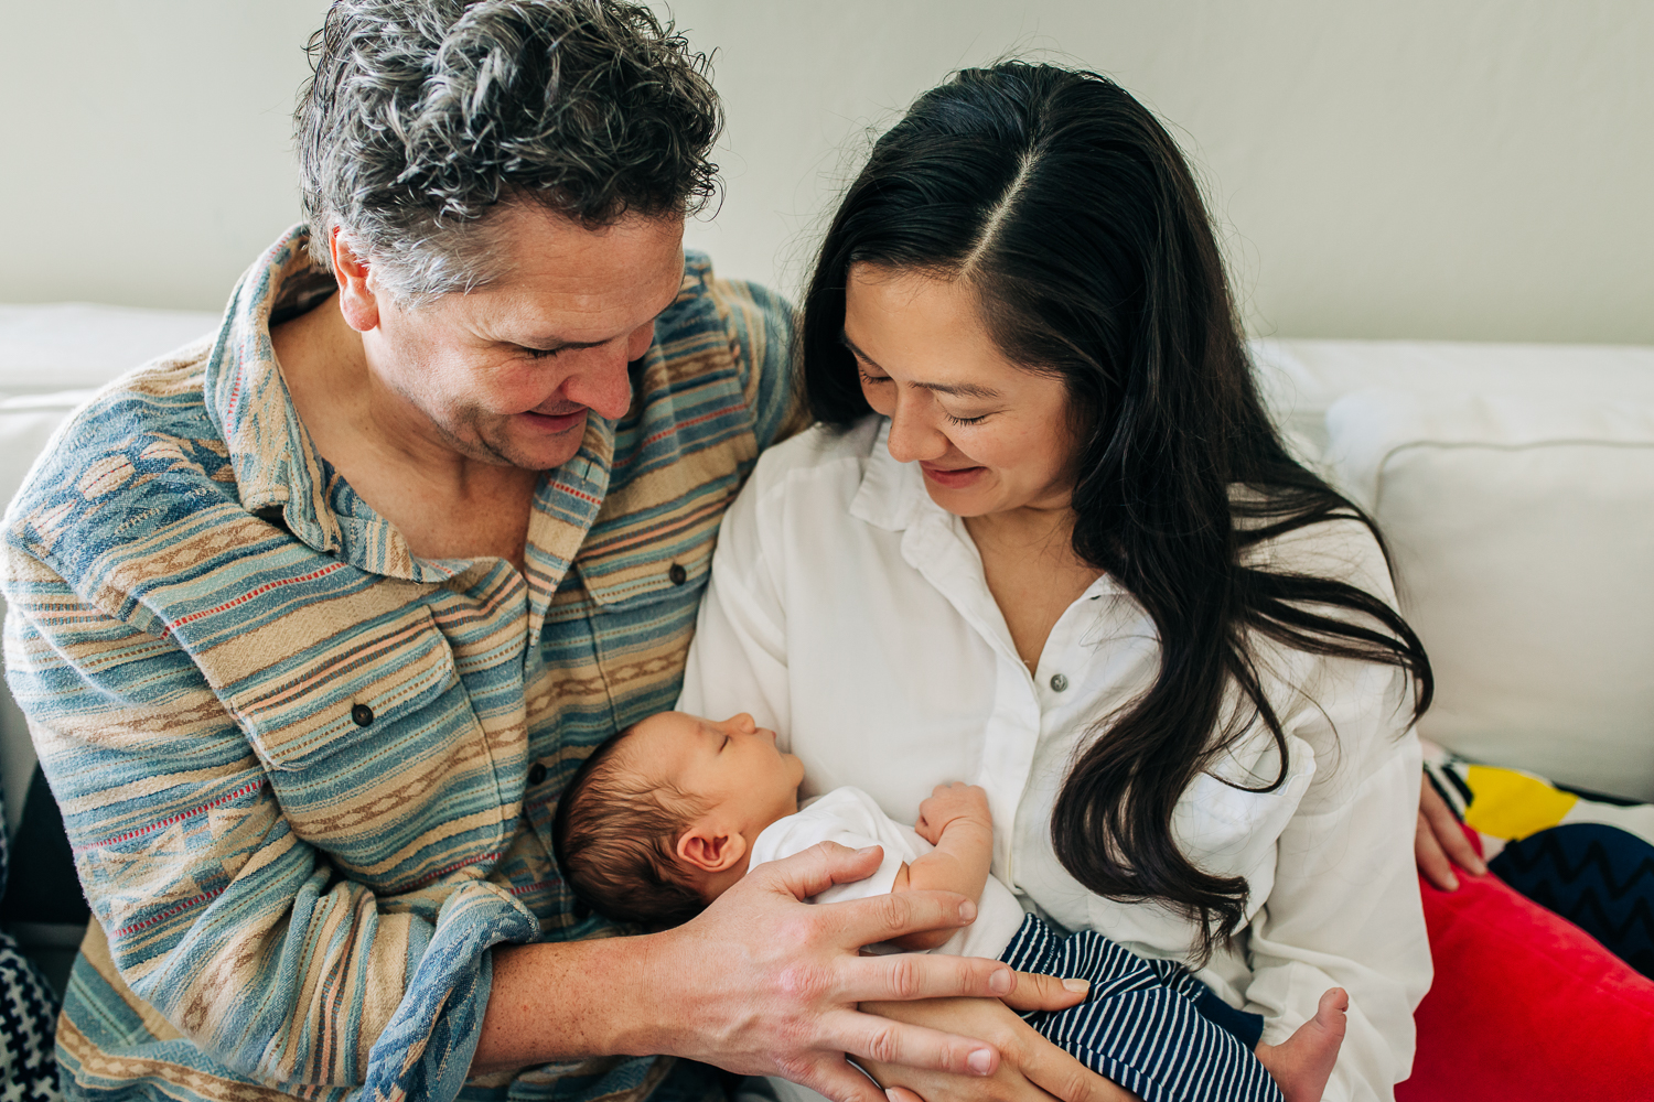
<path id="1" fill-rule="evenodd" d="M 855 785 L 911 823 L 931 788 L 987 790 L 994 876 L 1068 929 L 1181 958 L 1196 927 L 1153 902 L 1115 902 L 1057 861 L 1050 813 L 1098 722 L 1153 682 L 1153 621 L 1098 578 L 1052 628 L 1039 667 L 1017 656 L 963 520 L 887 421 L 817 426 L 759 459 L 724 517 L 680 707 L 751 712 L 804 760 L 804 795 Z M 1277 570 L 1336 577 L 1393 601 L 1356 522 L 1257 552 Z M 1174 836 L 1197 866 L 1250 884 L 1247 925 L 1199 976 L 1265 1016 L 1279 1043 L 1331 986 L 1350 1029 L 1327 1099 L 1389 1099 L 1413 1064 L 1413 1008 L 1431 980 L 1413 864 L 1419 747 L 1406 677 L 1388 666 L 1254 644 L 1287 732 L 1287 777 L 1254 720 L 1183 795 Z"/>

